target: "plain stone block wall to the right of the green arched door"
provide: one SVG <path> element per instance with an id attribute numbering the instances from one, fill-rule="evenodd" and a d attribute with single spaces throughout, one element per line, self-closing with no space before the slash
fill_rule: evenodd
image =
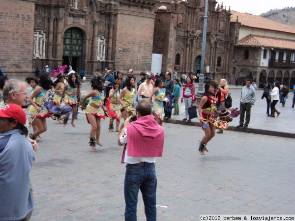
<path id="1" fill-rule="evenodd" d="M 118 13 L 113 44 L 113 59 L 117 70 L 124 73 L 131 68 L 136 74 L 150 70 L 153 31 L 154 15 Z"/>

